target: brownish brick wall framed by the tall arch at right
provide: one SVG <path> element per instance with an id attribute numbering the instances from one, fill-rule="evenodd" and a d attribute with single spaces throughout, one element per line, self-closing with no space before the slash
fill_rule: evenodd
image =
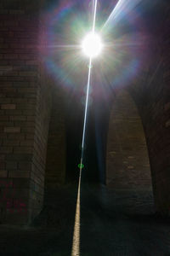
<path id="1" fill-rule="evenodd" d="M 112 105 L 106 161 L 109 187 L 152 189 L 143 125 L 127 90 L 120 91 Z"/>

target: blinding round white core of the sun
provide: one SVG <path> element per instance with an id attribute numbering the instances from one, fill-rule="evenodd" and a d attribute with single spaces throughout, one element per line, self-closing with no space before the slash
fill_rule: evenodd
<path id="1" fill-rule="evenodd" d="M 85 55 L 94 58 L 100 54 L 103 45 L 99 35 L 94 32 L 89 33 L 82 42 L 82 50 Z"/>

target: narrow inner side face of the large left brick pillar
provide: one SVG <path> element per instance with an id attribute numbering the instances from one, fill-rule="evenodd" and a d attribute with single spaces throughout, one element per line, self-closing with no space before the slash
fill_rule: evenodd
<path id="1" fill-rule="evenodd" d="M 35 133 L 30 187 L 31 218 L 41 211 L 44 194 L 48 124 L 51 111 L 51 87 L 44 72 L 41 68 L 41 77 L 37 86 L 37 111 L 34 117 Z"/>

